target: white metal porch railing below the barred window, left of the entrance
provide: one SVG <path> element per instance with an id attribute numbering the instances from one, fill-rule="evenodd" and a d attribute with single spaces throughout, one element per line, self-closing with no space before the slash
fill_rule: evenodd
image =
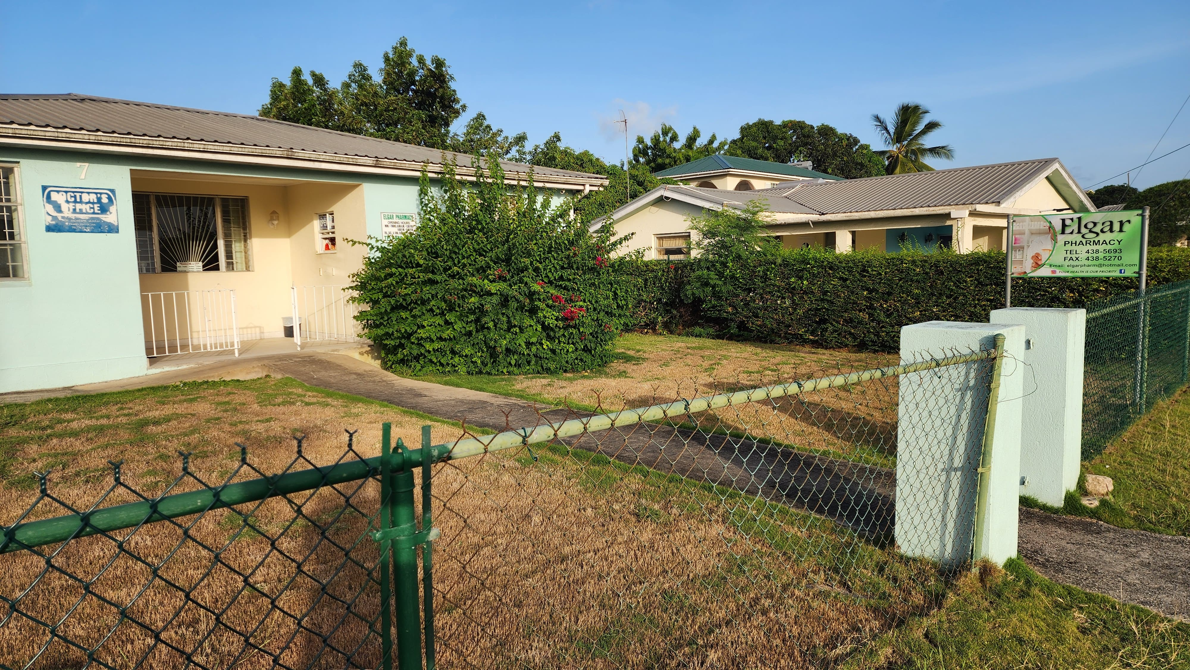
<path id="1" fill-rule="evenodd" d="M 233 289 L 142 293 L 140 307 L 149 358 L 227 350 L 239 356 Z"/>

